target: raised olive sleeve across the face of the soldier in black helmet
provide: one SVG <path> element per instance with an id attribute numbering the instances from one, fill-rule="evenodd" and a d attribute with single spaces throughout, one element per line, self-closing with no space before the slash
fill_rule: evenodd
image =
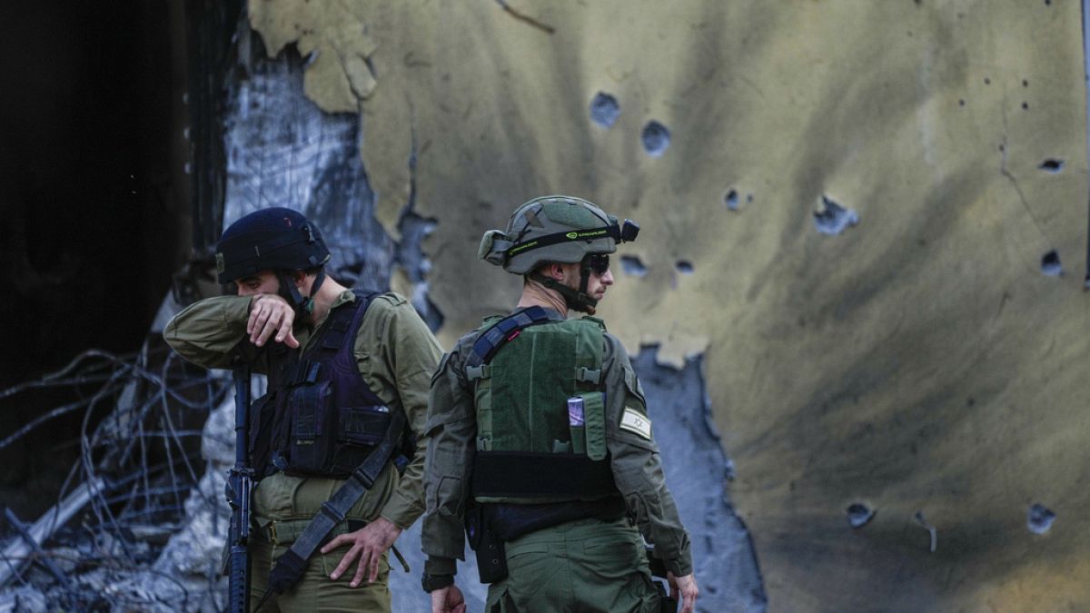
<path id="1" fill-rule="evenodd" d="M 246 338 L 250 300 L 217 296 L 194 302 L 167 323 L 162 338 L 186 361 L 206 369 L 230 368 L 235 347 Z"/>

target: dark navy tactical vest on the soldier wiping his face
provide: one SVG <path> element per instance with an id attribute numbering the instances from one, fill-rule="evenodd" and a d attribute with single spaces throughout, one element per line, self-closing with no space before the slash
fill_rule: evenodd
<path id="1" fill-rule="evenodd" d="M 353 347 L 375 293 L 332 309 L 300 353 L 270 353 L 269 392 L 251 411 L 253 466 L 258 477 L 344 479 L 386 434 L 390 409 L 364 382 Z"/>

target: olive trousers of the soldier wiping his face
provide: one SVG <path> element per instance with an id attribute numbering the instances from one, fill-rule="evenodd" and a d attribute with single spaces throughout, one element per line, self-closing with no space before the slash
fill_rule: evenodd
<path id="1" fill-rule="evenodd" d="M 383 473 L 386 474 L 385 472 Z M 250 546 L 250 605 L 254 606 L 265 593 L 268 585 L 269 570 L 276 561 L 291 548 L 294 537 L 300 533 L 306 522 L 329 500 L 342 481 L 325 478 L 295 479 L 276 474 L 263 479 L 254 492 L 255 518 L 263 522 Z M 373 488 L 364 495 L 348 517 L 358 521 L 366 521 L 378 515 L 378 509 L 392 488 L 389 480 L 383 481 L 383 486 Z M 276 542 L 270 539 L 271 531 L 264 522 L 271 521 L 276 531 Z M 343 525 L 335 532 L 347 531 Z M 364 578 L 358 588 L 348 587 L 355 576 L 359 560 L 336 581 L 329 580 L 329 574 L 337 568 L 348 551 L 347 546 L 338 548 L 328 554 L 315 550 L 311 556 L 303 578 L 287 592 L 270 597 L 262 606 L 262 613 L 293 613 L 295 611 L 366 611 L 389 612 L 390 589 L 388 585 L 390 566 L 387 554 L 383 554 L 378 564 L 378 578 L 368 584 Z"/>

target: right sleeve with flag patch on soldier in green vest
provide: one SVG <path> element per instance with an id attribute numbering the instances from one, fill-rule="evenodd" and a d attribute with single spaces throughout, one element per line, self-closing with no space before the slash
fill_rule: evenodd
<path id="1" fill-rule="evenodd" d="M 603 370 L 606 445 L 613 458 L 614 481 L 640 531 L 654 543 L 655 556 L 674 575 L 689 575 L 692 573 L 689 534 L 681 525 L 674 496 L 666 489 L 643 389 L 628 353 L 611 336 L 606 337 Z"/>

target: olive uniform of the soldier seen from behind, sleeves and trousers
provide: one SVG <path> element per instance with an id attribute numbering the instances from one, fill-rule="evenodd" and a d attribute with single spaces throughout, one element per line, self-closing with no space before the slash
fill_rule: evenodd
<path id="1" fill-rule="evenodd" d="M 455 558 L 464 560 L 463 519 L 477 435 L 465 361 L 480 335 L 463 336 L 432 380 L 428 512 L 421 537 L 431 575 L 455 574 Z M 603 338 L 606 447 L 628 517 L 579 519 L 507 542 L 508 577 L 489 586 L 489 611 L 658 611 L 640 532 L 668 570 L 692 573 L 689 537 L 666 490 L 650 420 L 633 424 L 633 416 L 646 418 L 643 390 L 620 341 L 608 334 Z"/>

